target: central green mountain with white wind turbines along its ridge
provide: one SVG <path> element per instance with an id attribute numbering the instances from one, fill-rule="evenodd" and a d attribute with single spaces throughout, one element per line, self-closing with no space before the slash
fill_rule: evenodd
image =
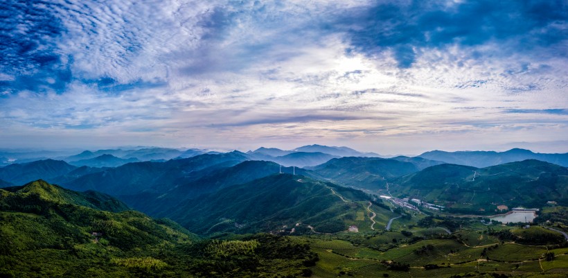
<path id="1" fill-rule="evenodd" d="M 188 200 L 168 217 L 199 234 L 292 232 L 292 228 L 309 232 L 309 227 L 333 233 L 350 225 L 369 230 L 369 200 L 354 189 L 301 175 L 276 174 Z M 378 205 L 373 209 L 386 222 L 392 213 Z"/>

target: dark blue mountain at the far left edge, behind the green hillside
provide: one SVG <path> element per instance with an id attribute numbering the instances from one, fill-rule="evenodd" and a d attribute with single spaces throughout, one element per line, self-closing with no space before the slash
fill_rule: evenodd
<path id="1" fill-rule="evenodd" d="M 12 184 L 25 184 L 32 180 L 51 180 L 65 175 L 77 167 L 60 160 L 46 159 L 24 164 L 10 164 L 0 168 L 0 179 Z"/>

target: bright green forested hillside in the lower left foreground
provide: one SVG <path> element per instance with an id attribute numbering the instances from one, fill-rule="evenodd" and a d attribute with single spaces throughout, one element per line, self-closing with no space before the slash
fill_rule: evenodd
<path id="1" fill-rule="evenodd" d="M 0 277 L 301 277 L 318 259 L 282 236 L 200 240 L 171 220 L 100 210 L 109 200 L 41 180 L 0 189 Z"/>

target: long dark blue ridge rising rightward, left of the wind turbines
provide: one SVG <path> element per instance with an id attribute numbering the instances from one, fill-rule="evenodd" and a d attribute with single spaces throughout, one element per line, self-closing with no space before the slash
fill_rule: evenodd
<path id="1" fill-rule="evenodd" d="M 73 190 L 96 190 L 104 193 L 132 195 L 143 191 L 163 193 L 172 187 L 195 180 L 211 167 L 233 166 L 247 160 L 244 153 L 197 155 L 168 162 L 135 162 L 116 168 L 105 168 L 98 173 L 78 177 L 62 185 Z"/>

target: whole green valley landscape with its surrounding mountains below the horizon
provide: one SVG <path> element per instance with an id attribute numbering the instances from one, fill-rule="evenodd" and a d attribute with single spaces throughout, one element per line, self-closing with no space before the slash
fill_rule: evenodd
<path id="1" fill-rule="evenodd" d="M 422 157 L 341 157 L 347 151 L 303 168 L 258 160 L 260 153 L 295 152 L 274 148 L 192 150 L 190 157 L 119 166 L 53 159 L 4 166 L 0 274 L 71 275 L 70 268 L 89 277 L 568 272 L 567 168 L 538 160 L 475 168 Z M 125 157 L 118 158 L 132 155 Z M 17 186 L 24 180 L 31 182 Z M 46 257 L 55 259 L 38 263 Z"/>

